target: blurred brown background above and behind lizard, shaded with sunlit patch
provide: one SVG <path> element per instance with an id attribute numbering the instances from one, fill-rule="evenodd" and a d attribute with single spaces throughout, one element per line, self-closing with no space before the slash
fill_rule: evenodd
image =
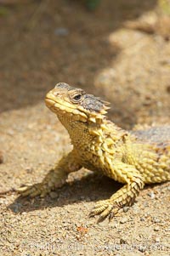
<path id="1" fill-rule="evenodd" d="M 0 38 L 0 111 L 68 82 L 125 128 L 169 118 L 168 0 L 0 0 Z"/>

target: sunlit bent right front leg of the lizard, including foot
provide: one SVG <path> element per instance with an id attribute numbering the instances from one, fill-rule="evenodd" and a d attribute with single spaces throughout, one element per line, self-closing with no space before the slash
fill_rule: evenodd
<path id="1" fill-rule="evenodd" d="M 124 162 L 114 162 L 109 176 L 119 182 L 126 183 L 119 191 L 107 200 L 96 203 L 89 217 L 100 214 L 99 220 L 102 221 L 109 215 L 109 219 L 124 206 L 131 206 L 139 191 L 144 187 L 144 181 L 139 171 Z"/>

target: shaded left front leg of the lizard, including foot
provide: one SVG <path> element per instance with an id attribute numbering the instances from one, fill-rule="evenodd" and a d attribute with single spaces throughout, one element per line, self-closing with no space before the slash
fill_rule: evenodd
<path id="1" fill-rule="evenodd" d="M 50 191 L 65 184 L 68 174 L 82 168 L 73 150 L 67 156 L 63 156 L 55 168 L 51 169 L 41 183 L 24 186 L 18 189 L 21 196 L 46 196 Z"/>

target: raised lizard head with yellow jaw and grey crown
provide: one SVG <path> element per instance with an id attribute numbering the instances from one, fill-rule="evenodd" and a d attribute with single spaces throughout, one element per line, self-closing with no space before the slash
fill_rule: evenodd
<path id="1" fill-rule="evenodd" d="M 51 111 L 59 115 L 69 115 L 80 122 L 98 122 L 105 117 L 108 102 L 86 94 L 81 88 L 73 88 L 65 82 L 59 82 L 48 92 L 45 99 Z"/>

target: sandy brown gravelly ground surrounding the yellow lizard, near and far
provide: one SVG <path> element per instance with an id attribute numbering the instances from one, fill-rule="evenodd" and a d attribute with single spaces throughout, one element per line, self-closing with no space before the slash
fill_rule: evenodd
<path id="1" fill-rule="evenodd" d="M 123 128 L 169 122 L 167 2 L 106 0 L 94 12 L 76 0 L 0 5 L 0 255 L 170 255 L 169 183 L 146 186 L 127 213 L 99 225 L 88 213 L 120 188 L 111 179 L 82 170 L 44 199 L 14 192 L 71 150 L 43 102 L 57 82 L 111 101 Z"/>

